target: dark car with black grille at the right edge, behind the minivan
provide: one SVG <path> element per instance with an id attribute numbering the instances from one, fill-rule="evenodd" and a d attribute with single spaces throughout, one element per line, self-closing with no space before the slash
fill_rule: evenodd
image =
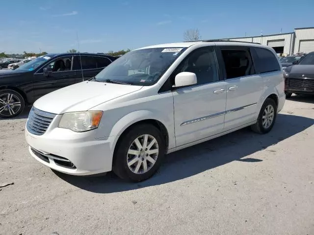
<path id="1" fill-rule="evenodd" d="M 314 94 L 314 52 L 302 57 L 297 64 L 284 69 L 285 93 Z"/>

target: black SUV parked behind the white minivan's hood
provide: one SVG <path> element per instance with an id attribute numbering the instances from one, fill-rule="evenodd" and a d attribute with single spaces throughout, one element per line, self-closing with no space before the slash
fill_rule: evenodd
<path id="1" fill-rule="evenodd" d="M 39 97 L 90 79 L 116 59 L 105 54 L 46 54 L 16 70 L 1 70 L 0 118 L 15 117 Z"/>

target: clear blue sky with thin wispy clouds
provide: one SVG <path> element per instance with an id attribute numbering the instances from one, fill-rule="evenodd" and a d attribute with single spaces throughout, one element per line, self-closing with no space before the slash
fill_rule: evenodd
<path id="1" fill-rule="evenodd" d="M 0 51 L 83 52 L 291 32 L 314 26 L 314 0 L 5 0 Z M 77 40 L 78 33 L 78 40 Z"/>

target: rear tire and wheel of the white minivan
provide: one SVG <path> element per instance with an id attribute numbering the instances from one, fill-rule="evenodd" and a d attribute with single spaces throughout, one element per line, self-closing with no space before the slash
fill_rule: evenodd
<path id="1" fill-rule="evenodd" d="M 268 111 L 269 114 L 267 115 Z M 276 117 L 277 117 L 276 102 L 271 98 L 267 98 L 262 105 L 257 122 L 251 126 L 251 129 L 256 133 L 266 134 L 270 132 L 270 130 L 273 128 L 276 121 Z"/>

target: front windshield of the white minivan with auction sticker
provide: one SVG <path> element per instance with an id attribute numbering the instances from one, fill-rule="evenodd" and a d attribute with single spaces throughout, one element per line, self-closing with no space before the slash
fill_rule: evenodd
<path id="1" fill-rule="evenodd" d="M 185 49 L 158 47 L 130 51 L 98 73 L 95 80 L 153 85 Z"/>

